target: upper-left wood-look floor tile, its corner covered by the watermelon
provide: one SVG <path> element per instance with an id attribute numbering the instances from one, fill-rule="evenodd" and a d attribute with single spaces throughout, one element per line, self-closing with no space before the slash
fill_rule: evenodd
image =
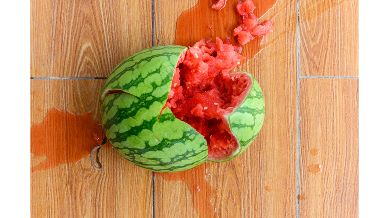
<path id="1" fill-rule="evenodd" d="M 31 0 L 31 77 L 107 77 L 152 45 L 151 11 L 151 0 Z"/>

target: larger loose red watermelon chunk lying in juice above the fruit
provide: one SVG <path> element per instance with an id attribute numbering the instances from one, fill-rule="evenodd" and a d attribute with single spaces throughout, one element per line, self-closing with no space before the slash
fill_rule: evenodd
<path id="1" fill-rule="evenodd" d="M 267 35 L 272 31 L 271 27 L 275 25 L 270 20 L 266 20 L 258 25 L 258 18 L 253 14 L 254 9 L 254 3 L 251 0 L 247 0 L 244 3 L 238 1 L 239 26 L 234 29 L 233 35 L 238 36 L 237 39 L 241 45 L 246 44 L 255 37 Z"/>

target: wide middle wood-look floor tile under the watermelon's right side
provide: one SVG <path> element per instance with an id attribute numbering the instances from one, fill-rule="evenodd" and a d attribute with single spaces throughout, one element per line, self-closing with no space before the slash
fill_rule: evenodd
<path id="1" fill-rule="evenodd" d="M 186 3 L 155 4 L 159 5 L 155 7 L 155 38 L 159 44 L 171 43 L 175 31 L 170 26 L 176 20 L 166 12 L 170 5 L 185 8 L 178 5 Z M 262 18 L 276 15 L 274 35 L 265 37 L 262 44 L 268 46 L 238 69 L 253 73 L 264 93 L 266 114 L 259 136 L 231 161 L 206 162 L 181 174 L 156 174 L 155 217 L 296 217 L 296 5 L 296 1 L 280 0 Z M 273 191 L 267 189 L 270 187 Z"/>

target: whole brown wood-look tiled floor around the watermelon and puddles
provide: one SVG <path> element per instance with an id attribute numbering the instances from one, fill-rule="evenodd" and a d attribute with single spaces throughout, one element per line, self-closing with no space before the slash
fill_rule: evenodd
<path id="1" fill-rule="evenodd" d="M 98 121 L 110 71 L 173 43 L 197 2 L 31 0 L 31 126 L 53 107 Z M 106 147 L 101 171 L 88 157 L 31 173 L 31 216 L 358 217 L 358 1 L 279 0 L 261 20 L 271 15 L 268 46 L 241 67 L 266 104 L 250 148 L 175 182 Z M 31 153 L 31 167 L 42 161 Z"/>

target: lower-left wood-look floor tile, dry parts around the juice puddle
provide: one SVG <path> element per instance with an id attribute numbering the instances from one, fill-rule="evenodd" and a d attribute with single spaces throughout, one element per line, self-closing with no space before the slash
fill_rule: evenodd
<path id="1" fill-rule="evenodd" d="M 104 80 L 31 80 L 31 123 L 42 123 L 52 107 L 72 113 L 91 112 L 97 120 L 103 83 Z M 40 145 L 36 143 L 31 146 Z M 152 173 L 132 165 L 110 146 L 103 147 L 99 155 L 101 171 L 92 168 L 88 156 L 76 163 L 31 173 L 31 216 L 151 217 Z M 46 158 L 50 157 L 36 159 L 31 153 L 31 167 Z"/>

